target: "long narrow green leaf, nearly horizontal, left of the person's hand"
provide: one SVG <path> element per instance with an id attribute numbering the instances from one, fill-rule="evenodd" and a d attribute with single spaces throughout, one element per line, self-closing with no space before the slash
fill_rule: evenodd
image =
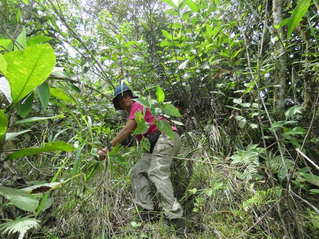
<path id="1" fill-rule="evenodd" d="M 28 156 L 32 154 L 42 153 L 42 152 L 52 152 L 52 151 L 67 151 L 71 152 L 75 150 L 75 147 L 67 142 L 64 141 L 57 141 L 57 142 L 50 142 L 44 144 L 42 147 L 29 147 L 23 148 L 21 150 L 15 151 L 7 156 L 7 160 L 20 158 L 23 156 Z"/>

